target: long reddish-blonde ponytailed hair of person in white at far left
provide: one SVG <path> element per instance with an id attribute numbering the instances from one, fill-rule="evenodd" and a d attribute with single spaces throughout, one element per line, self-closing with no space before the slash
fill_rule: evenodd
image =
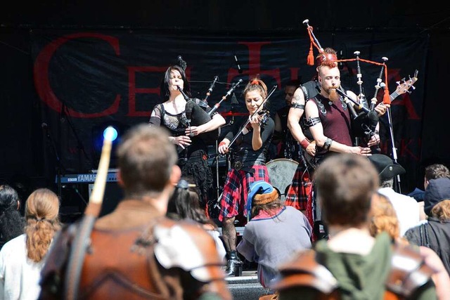
<path id="1" fill-rule="evenodd" d="M 25 234 L 27 256 L 35 262 L 41 261 L 49 250 L 51 240 L 60 229 L 59 199 L 51 190 L 34 190 L 25 203 Z"/>

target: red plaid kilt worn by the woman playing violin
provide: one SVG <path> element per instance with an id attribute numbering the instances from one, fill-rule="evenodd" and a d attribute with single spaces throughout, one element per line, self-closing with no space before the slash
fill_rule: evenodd
<path id="1" fill-rule="evenodd" d="M 219 221 L 238 216 L 236 219 L 240 221 L 240 225 L 247 223 L 247 196 L 250 184 L 260 180 L 270 183 L 269 172 L 265 165 L 254 165 L 252 169 L 255 170 L 254 173 L 229 169 L 220 200 Z"/>

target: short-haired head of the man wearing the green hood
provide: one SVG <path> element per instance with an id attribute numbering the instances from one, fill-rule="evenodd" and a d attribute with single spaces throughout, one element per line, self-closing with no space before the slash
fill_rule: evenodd
<path id="1" fill-rule="evenodd" d="M 366 157 L 332 155 L 314 171 L 314 180 L 329 225 L 359 226 L 368 221 L 378 174 Z"/>

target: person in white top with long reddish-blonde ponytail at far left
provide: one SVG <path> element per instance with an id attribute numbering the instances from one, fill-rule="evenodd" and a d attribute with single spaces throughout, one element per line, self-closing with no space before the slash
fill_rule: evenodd
<path id="1" fill-rule="evenodd" d="M 39 188 L 25 203 L 25 233 L 4 244 L 0 251 L 0 299 L 37 299 L 53 236 L 60 229 L 59 199 L 51 190 Z"/>

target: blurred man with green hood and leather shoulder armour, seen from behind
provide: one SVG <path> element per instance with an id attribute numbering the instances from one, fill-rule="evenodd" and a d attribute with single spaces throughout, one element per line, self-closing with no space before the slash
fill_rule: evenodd
<path id="1" fill-rule="evenodd" d="M 387 233 L 369 232 L 379 178 L 366 157 L 328 157 L 314 178 L 330 239 L 279 267 L 281 280 L 274 285 L 279 299 L 436 299 L 432 269 L 420 254 L 392 243 Z M 407 270 L 397 263 L 404 260 L 410 263 Z"/>

